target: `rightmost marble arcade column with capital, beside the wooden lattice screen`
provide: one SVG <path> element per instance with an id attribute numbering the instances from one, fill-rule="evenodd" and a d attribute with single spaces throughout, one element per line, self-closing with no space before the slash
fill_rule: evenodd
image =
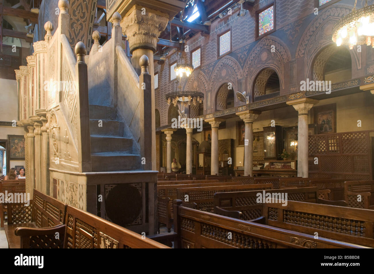
<path id="1" fill-rule="evenodd" d="M 300 98 L 287 102 L 287 105 L 292 105 L 298 111 L 297 176 L 303 178 L 309 176 L 308 111 L 318 102 L 318 100 L 310 98 Z"/>

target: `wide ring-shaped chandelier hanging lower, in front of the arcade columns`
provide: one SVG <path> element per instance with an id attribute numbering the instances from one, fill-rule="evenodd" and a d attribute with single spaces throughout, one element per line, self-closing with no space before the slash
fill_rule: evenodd
<path id="1" fill-rule="evenodd" d="M 182 85 L 181 85 L 181 77 L 177 77 L 176 80 L 177 83 L 177 88 L 175 89 L 174 92 L 170 92 L 166 94 L 166 102 L 168 102 L 168 105 L 173 103 L 174 107 L 177 106 L 177 104 L 183 104 L 185 107 L 187 105 L 196 105 L 197 103 L 202 102 L 204 99 L 204 93 L 196 91 L 196 90 L 182 90 Z"/>

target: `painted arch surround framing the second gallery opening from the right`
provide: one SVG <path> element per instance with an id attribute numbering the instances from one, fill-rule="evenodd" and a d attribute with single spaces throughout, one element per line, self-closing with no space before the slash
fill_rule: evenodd
<path id="1" fill-rule="evenodd" d="M 275 51 L 272 52 L 272 46 Z M 266 36 L 261 39 L 251 50 L 244 65 L 244 73 L 248 75 L 248 90 L 253 94 L 254 80 L 260 71 L 271 68 L 279 77 L 279 83 L 284 89 L 284 66 L 291 61 L 291 53 L 282 40 L 274 36 Z"/>

